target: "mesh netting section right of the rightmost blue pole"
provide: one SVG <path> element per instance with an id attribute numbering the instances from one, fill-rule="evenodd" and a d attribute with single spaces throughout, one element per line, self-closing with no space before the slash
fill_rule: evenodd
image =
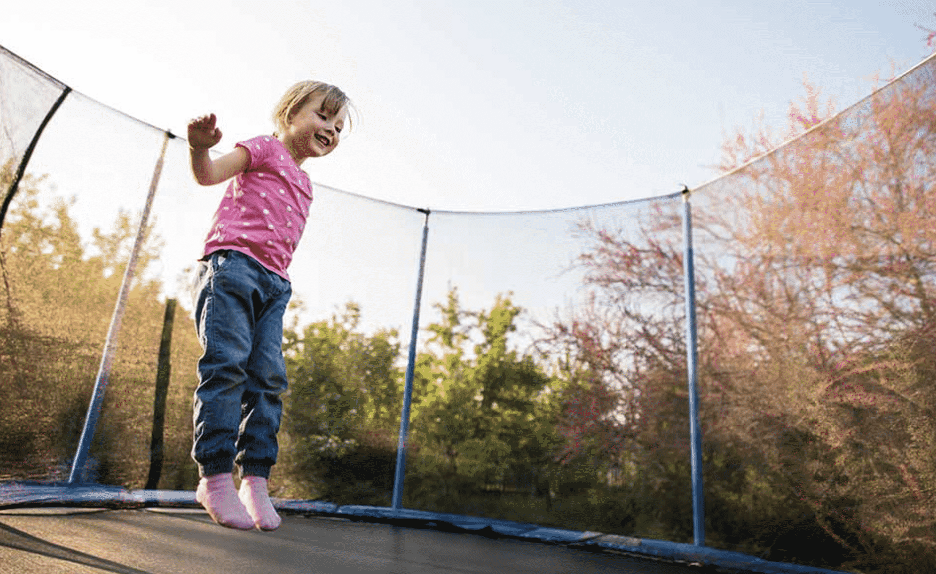
<path id="1" fill-rule="evenodd" d="M 694 194 L 707 486 L 862 568 L 936 546 L 934 66 Z"/>

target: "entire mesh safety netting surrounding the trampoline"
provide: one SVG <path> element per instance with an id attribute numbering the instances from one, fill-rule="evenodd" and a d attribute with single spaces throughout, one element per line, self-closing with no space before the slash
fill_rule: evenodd
<path id="1" fill-rule="evenodd" d="M 690 196 L 709 546 L 864 571 L 936 547 L 933 66 Z M 5 191 L 63 89 L 0 51 Z M 0 234 L 0 479 L 67 478 L 164 137 L 71 93 L 39 140 Z M 158 486 L 195 488 L 190 282 L 224 187 L 169 140 L 90 480 L 147 481 L 174 299 Z M 680 194 L 428 218 L 314 196 L 274 495 L 389 504 L 428 222 L 403 505 L 692 541 Z"/>

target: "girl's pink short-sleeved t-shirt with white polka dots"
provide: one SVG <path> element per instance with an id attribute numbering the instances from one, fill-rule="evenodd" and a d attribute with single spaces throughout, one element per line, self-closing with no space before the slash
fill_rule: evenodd
<path id="1" fill-rule="evenodd" d="M 312 182 L 283 142 L 272 136 L 239 141 L 250 165 L 227 185 L 205 240 L 204 255 L 240 251 L 286 281 L 286 268 L 305 228 Z"/>

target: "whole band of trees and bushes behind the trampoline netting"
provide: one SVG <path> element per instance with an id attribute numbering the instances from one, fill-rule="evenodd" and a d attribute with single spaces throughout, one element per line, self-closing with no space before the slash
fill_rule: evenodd
<path id="1" fill-rule="evenodd" d="M 725 177 L 691 196 L 709 546 L 860 572 L 936 564 L 933 85 L 923 67 L 834 117 L 807 86 L 787 133 L 729 138 Z M 40 183 L 23 181 L 0 235 L 5 479 L 65 478 L 133 236 L 121 213 L 84 243 L 68 200 L 38 207 Z M 525 351 L 512 293 L 432 302 L 405 506 L 692 540 L 680 210 L 654 204 L 636 229 L 581 217 L 588 304 Z M 159 250 L 151 229 L 139 276 Z M 92 449 L 104 483 L 146 480 L 160 291 L 131 293 Z M 363 332 L 365 312 L 285 332 L 276 495 L 389 504 L 405 345 Z M 195 488 L 199 355 L 180 313 L 160 488 Z"/>

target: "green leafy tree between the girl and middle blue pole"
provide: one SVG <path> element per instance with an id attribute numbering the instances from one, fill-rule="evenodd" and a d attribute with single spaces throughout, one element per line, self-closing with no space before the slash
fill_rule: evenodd
<path id="1" fill-rule="evenodd" d="M 289 390 L 280 433 L 281 493 L 389 500 L 402 408 L 395 330 L 358 331 L 360 307 L 285 331 Z"/>

